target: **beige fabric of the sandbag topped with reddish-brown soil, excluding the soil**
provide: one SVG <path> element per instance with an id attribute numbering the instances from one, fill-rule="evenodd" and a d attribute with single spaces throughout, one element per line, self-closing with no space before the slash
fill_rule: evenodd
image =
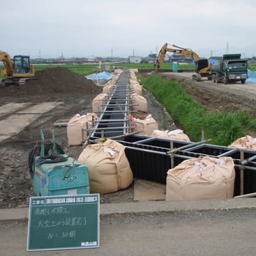
<path id="1" fill-rule="evenodd" d="M 150 136 L 153 130 L 158 130 L 158 122 L 156 122 L 151 114 L 148 114 L 144 119 L 135 117 L 135 131 L 138 134 Z"/>

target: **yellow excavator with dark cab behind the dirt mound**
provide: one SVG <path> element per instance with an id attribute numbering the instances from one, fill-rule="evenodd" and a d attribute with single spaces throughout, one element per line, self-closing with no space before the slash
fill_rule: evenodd
<path id="1" fill-rule="evenodd" d="M 0 85 L 24 85 L 27 79 L 35 76 L 35 70 L 30 63 L 29 56 L 16 55 L 12 60 L 8 53 L 0 51 L 0 61 L 2 79 Z"/>

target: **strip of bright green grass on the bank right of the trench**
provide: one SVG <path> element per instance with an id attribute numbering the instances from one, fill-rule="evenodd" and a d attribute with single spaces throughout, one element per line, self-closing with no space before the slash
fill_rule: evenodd
<path id="1" fill-rule="evenodd" d="M 147 78 L 139 76 L 139 79 L 165 106 L 174 122 L 188 134 L 191 141 L 201 140 L 202 127 L 205 128 L 205 139 L 212 139 L 211 144 L 223 146 L 256 130 L 256 119 L 245 111 L 209 112 L 176 81 L 166 81 L 157 75 Z"/>

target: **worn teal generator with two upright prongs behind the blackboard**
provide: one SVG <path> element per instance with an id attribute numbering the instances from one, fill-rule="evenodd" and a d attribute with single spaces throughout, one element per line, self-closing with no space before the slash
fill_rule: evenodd
<path id="1" fill-rule="evenodd" d="M 33 193 L 35 196 L 89 194 L 87 167 L 66 154 L 57 154 L 53 135 L 52 154 L 45 155 L 41 134 L 40 156 L 33 159 Z"/>

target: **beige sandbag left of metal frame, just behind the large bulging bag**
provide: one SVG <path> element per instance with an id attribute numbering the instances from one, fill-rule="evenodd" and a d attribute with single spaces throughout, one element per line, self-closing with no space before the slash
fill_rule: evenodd
<path id="1" fill-rule="evenodd" d="M 92 128 L 94 120 L 97 120 L 96 113 L 87 113 L 86 115 L 76 114 L 70 119 L 67 126 L 68 145 L 81 145 L 83 140 L 87 139 L 87 132 L 83 129 Z"/>

